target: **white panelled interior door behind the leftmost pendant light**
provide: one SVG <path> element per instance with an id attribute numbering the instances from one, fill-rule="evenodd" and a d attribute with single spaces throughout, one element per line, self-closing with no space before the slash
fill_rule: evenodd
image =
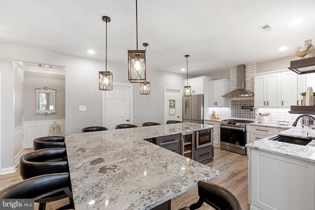
<path id="1" fill-rule="evenodd" d="M 103 93 L 103 126 L 112 130 L 132 121 L 132 85 L 114 84 L 113 90 Z"/>

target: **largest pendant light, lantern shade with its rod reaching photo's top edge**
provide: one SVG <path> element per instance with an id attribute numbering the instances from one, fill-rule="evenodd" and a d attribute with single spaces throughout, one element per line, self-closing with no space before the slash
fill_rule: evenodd
<path id="1" fill-rule="evenodd" d="M 138 50 L 138 12 L 136 0 L 136 37 L 137 50 L 128 50 L 128 80 L 130 83 L 146 81 L 146 55 L 144 50 Z"/>

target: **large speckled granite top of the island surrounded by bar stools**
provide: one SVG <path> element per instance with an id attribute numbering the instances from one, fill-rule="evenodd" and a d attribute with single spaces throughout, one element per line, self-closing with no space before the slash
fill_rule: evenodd
<path id="1" fill-rule="evenodd" d="M 145 138 L 212 127 L 175 123 L 65 136 L 76 210 L 149 210 L 219 171 Z"/>

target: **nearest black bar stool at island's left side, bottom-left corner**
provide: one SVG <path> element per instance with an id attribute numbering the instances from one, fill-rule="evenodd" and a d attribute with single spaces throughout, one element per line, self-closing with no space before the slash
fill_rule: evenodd
<path id="1" fill-rule="evenodd" d="M 64 197 L 53 197 L 63 194 Z M 45 210 L 46 203 L 69 197 L 70 204 L 60 209 L 74 209 L 68 173 L 49 174 L 23 180 L 0 191 L 0 199 L 33 199 L 39 203 L 39 210 Z M 23 199 L 21 199 L 23 198 Z"/>

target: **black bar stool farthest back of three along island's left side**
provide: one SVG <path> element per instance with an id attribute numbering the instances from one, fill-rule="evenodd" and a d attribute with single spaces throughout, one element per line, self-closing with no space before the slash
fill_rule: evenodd
<path id="1" fill-rule="evenodd" d="M 65 148 L 64 136 L 45 136 L 33 140 L 33 149 Z"/>

